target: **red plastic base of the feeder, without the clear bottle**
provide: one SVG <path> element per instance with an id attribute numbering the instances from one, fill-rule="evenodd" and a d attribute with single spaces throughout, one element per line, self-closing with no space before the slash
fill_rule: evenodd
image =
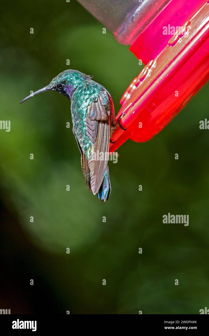
<path id="1" fill-rule="evenodd" d="M 185 26 L 186 32 L 163 35 L 168 25 Z M 130 50 L 142 61 L 151 60 L 120 100 L 117 118 L 125 113 L 122 125 L 127 130 L 116 129 L 110 152 L 129 138 L 137 142 L 151 139 L 208 80 L 209 1 L 170 1 Z"/>

